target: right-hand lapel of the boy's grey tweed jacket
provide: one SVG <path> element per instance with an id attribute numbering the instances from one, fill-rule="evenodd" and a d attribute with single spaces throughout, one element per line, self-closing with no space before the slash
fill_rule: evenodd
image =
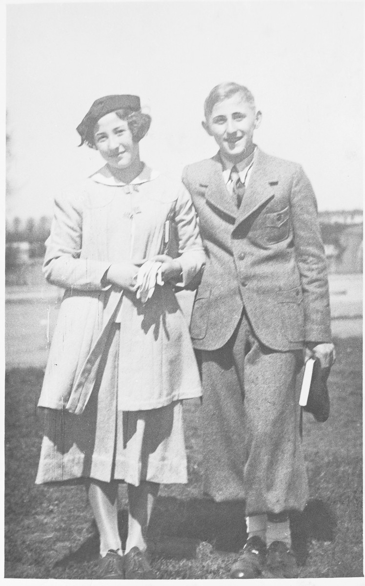
<path id="1" fill-rule="evenodd" d="M 272 199 L 277 189 L 278 176 L 275 169 L 270 166 L 270 158 L 260 149 L 257 149 L 256 156 L 241 207 L 236 213 L 235 228 L 265 202 Z"/>

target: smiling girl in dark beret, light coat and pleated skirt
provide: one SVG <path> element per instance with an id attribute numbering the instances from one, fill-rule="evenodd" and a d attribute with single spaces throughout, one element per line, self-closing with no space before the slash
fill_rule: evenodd
<path id="1" fill-rule="evenodd" d="M 201 394 L 173 286 L 192 282 L 204 251 L 185 187 L 140 159 L 150 123 L 137 96 L 94 102 L 77 131 L 106 165 L 56 199 L 43 265 L 66 292 L 39 400 L 46 428 L 36 482 L 84 482 L 101 578 L 153 578 L 146 528 L 159 484 L 187 482 L 182 400 Z M 174 231 L 177 258 L 166 254 Z"/>

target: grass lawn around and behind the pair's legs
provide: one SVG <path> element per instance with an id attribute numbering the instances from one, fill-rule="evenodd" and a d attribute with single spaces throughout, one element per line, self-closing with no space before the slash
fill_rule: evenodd
<path id="1" fill-rule="evenodd" d="M 292 517 L 301 578 L 363 575 L 361 340 L 337 340 L 325 424 L 304 414 L 303 442 L 311 499 Z M 42 370 L 6 374 L 5 577 L 94 578 L 98 536 L 82 486 L 35 486 L 42 437 L 36 403 Z M 228 578 L 245 542 L 243 503 L 202 496 L 199 401 L 185 406 L 189 484 L 161 489 L 149 539 L 159 578 Z M 127 499 L 120 488 L 120 531 Z"/>

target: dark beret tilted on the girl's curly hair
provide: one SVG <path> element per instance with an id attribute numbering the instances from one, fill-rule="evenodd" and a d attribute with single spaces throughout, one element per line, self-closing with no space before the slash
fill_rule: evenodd
<path id="1" fill-rule="evenodd" d="M 129 96 L 129 94 L 122 94 L 121 96 L 104 96 L 95 100 L 90 110 L 84 116 L 79 126 L 76 128 L 81 137 L 81 145 L 85 142 L 91 128 L 94 128 L 100 118 L 105 114 L 110 114 L 115 110 L 122 110 L 124 108 L 131 108 L 133 112 L 141 110 L 141 101 L 138 96 Z"/>

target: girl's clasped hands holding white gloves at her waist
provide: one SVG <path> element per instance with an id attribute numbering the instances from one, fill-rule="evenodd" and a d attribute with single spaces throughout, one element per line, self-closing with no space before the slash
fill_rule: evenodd
<path id="1" fill-rule="evenodd" d="M 169 257 L 167 254 L 158 254 L 148 261 L 134 261 L 134 263 L 114 263 L 107 270 L 105 277 L 112 285 L 116 285 L 127 291 L 137 292 L 140 284 L 138 283 L 138 273 L 149 268 L 146 263 L 159 263 L 161 269 L 162 284 L 165 281 L 171 281 L 176 284 L 179 281 L 182 267 L 178 260 Z M 144 271 L 143 271 L 144 272 Z M 160 282 L 161 284 L 161 282 Z"/>

